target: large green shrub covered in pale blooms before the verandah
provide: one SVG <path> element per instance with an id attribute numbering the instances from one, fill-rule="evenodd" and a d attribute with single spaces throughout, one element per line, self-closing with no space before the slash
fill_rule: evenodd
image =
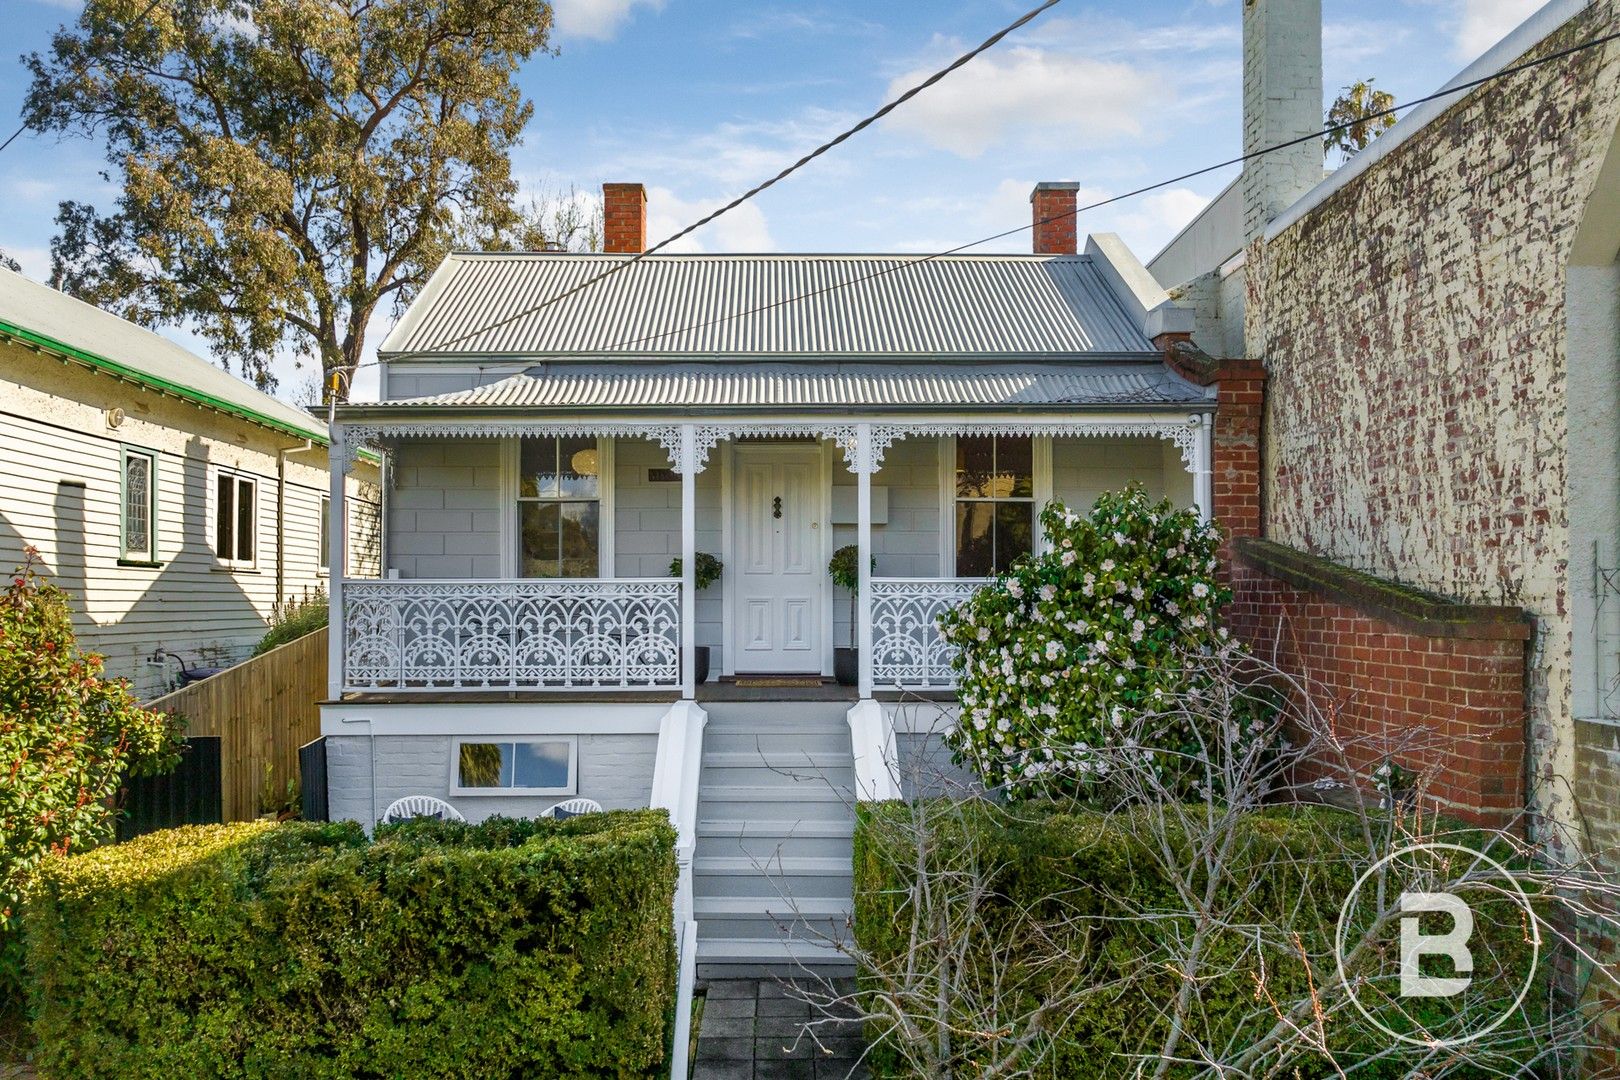
<path id="1" fill-rule="evenodd" d="M 1050 504 L 1047 549 L 1021 559 L 940 620 L 962 721 L 956 759 L 1013 795 L 1074 792 L 1100 779 L 1094 748 L 1128 721 L 1163 714 L 1196 691 L 1191 654 L 1226 644 L 1215 580 L 1221 534 L 1196 510 L 1153 504 L 1132 484 L 1090 517 Z M 1184 722 L 1131 724 L 1155 746 L 1197 753 Z M 1152 750 L 1152 748 L 1144 748 Z"/>

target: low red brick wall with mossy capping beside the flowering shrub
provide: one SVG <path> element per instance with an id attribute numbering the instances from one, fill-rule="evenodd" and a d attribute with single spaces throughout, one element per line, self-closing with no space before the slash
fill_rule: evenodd
<path id="1" fill-rule="evenodd" d="M 1340 732 L 1379 742 L 1427 729 L 1421 750 L 1396 761 L 1435 767 L 1430 806 L 1495 824 L 1524 808 L 1528 625 L 1458 622 L 1445 635 L 1424 633 L 1398 615 L 1273 576 L 1243 551 L 1231 573 L 1233 631 L 1262 659 L 1302 677 Z M 1353 755 L 1364 777 L 1382 764 L 1375 750 Z"/>

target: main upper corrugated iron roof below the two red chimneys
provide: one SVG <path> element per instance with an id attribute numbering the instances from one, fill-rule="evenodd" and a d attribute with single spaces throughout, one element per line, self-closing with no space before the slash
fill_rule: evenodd
<path id="1" fill-rule="evenodd" d="M 1153 351 L 1087 256 L 450 254 L 382 356 Z M 747 313 L 747 314 L 744 314 Z"/>

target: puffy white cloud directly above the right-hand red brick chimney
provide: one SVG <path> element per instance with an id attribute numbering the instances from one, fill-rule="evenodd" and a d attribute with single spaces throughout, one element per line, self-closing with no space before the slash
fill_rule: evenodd
<path id="1" fill-rule="evenodd" d="M 889 83 L 889 97 L 930 68 Z M 1173 91 L 1163 79 L 1118 60 L 1019 47 L 978 57 L 938 86 L 901 105 L 888 125 L 944 151 L 977 157 L 1009 139 L 1066 139 L 1076 151 L 1137 138 L 1150 112 Z"/>

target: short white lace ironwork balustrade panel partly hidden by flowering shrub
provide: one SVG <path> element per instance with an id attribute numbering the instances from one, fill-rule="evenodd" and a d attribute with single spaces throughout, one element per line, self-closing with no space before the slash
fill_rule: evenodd
<path id="1" fill-rule="evenodd" d="M 983 578 L 873 578 L 872 682 L 904 690 L 956 687 L 956 646 L 940 635 L 940 615 L 967 601 Z"/>

